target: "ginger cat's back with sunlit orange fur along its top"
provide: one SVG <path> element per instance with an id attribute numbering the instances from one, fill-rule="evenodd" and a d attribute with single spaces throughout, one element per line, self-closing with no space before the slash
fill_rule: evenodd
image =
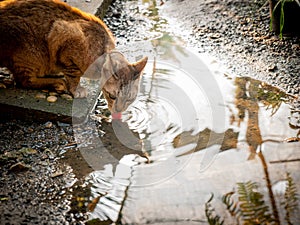
<path id="1" fill-rule="evenodd" d="M 21 49 L 24 43 L 45 45 L 47 34 L 58 20 L 85 21 L 98 33 L 101 32 L 98 37 L 104 36 L 109 43 L 114 42 L 112 34 L 99 18 L 60 0 L 4 0 L 0 1 L 0 60 L 11 55 L 16 48 Z"/>

